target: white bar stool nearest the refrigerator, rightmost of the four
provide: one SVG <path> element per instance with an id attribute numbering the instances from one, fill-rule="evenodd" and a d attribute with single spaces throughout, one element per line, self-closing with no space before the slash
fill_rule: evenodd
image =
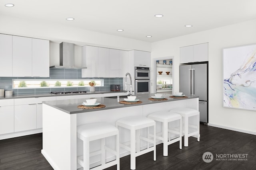
<path id="1" fill-rule="evenodd" d="M 188 147 L 188 137 L 197 135 L 197 141 L 200 141 L 200 114 L 196 109 L 190 108 L 176 108 L 170 110 L 171 112 L 179 113 L 182 116 L 184 125 L 182 126 L 182 132 L 184 133 L 184 147 Z M 188 118 L 196 116 L 196 124 L 188 124 Z"/>

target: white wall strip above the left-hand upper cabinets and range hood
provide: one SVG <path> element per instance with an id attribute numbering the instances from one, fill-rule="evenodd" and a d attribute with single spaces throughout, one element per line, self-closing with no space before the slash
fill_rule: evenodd
<path id="1" fill-rule="evenodd" d="M 67 27 L 65 25 L 56 25 L 56 23 L 41 23 L 37 20 L 24 20 L 4 16 L 0 18 L 0 23 L 0 33 L 4 34 L 48 39 L 57 43 L 64 41 L 80 46 L 95 45 L 123 50 L 151 50 L 149 42 L 72 27 L 72 22 L 70 27 Z"/>

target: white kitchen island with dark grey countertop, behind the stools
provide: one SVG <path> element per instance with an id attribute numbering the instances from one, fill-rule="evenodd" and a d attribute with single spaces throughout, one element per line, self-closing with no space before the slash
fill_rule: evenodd
<path id="1" fill-rule="evenodd" d="M 151 94 L 152 95 L 152 94 Z M 86 99 L 58 100 L 43 102 L 43 149 L 42 154 L 55 170 L 75 170 L 76 157 L 82 155 L 82 142 L 76 139 L 76 127 L 86 123 L 115 122 L 127 116 L 148 116 L 154 111 L 169 111 L 177 107 L 198 110 L 198 96 L 169 98 L 166 101 L 151 101 L 151 95 L 138 95 L 141 104 L 120 104 L 115 98 L 96 98 L 106 107 L 99 109 L 79 109 L 77 106 Z M 153 96 L 153 95 L 152 95 Z M 119 99 L 120 101 L 123 98 Z M 129 140 L 129 135 L 120 134 L 120 142 Z M 110 139 L 111 144 L 111 139 Z M 94 145 L 91 146 L 95 149 Z M 120 150 L 120 157 L 129 152 Z M 109 160 L 111 156 L 107 155 Z M 97 165 L 97 158 L 92 160 Z"/>

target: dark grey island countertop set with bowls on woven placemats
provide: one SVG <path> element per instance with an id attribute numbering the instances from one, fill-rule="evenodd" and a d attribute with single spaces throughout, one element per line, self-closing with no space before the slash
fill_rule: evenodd
<path id="1" fill-rule="evenodd" d="M 168 100 L 165 101 L 152 101 L 148 100 L 148 98 L 151 98 L 151 96 L 154 96 L 154 94 L 140 94 L 137 96 L 136 99 L 139 99 L 142 101 L 141 104 L 120 104 L 117 99 L 114 98 L 96 98 L 97 102 L 100 104 L 104 104 L 106 107 L 99 108 L 99 109 L 79 109 L 77 106 L 81 105 L 83 102 L 86 102 L 85 99 L 72 99 L 72 100 L 56 100 L 56 101 L 46 101 L 43 102 L 43 104 L 46 104 L 48 106 L 52 106 L 56 109 L 59 109 L 61 111 L 64 111 L 68 114 L 75 114 L 75 113 L 84 113 L 84 112 L 90 112 L 90 111 L 98 111 L 98 110 L 106 110 L 106 109 L 116 109 L 121 107 L 130 107 L 130 106 L 138 106 L 138 105 L 146 105 L 146 104 L 154 104 L 154 103 L 160 103 L 160 102 L 172 102 L 177 100 L 186 100 L 191 98 L 198 98 L 198 96 L 188 96 L 188 98 L 169 98 L 168 95 L 166 98 Z M 124 98 L 120 98 L 120 101 L 124 100 Z"/>

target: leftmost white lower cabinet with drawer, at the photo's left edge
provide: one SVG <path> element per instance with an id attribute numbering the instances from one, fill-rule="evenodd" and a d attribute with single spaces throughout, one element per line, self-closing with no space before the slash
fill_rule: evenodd
<path id="1" fill-rule="evenodd" d="M 14 132 L 14 99 L 0 100 L 0 135 Z"/>

